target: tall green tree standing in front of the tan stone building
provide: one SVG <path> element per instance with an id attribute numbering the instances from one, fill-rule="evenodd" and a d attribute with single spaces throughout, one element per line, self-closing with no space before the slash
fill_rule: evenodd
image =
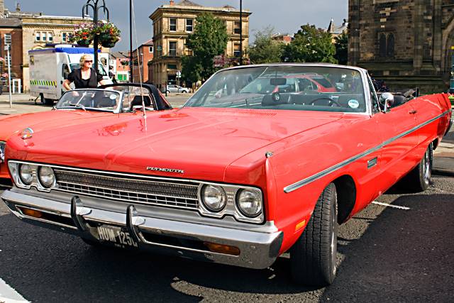
<path id="1" fill-rule="evenodd" d="M 213 66 L 213 58 L 221 55 L 226 50 L 228 41 L 226 25 L 212 13 L 201 13 L 196 18 L 194 33 L 188 36 L 186 45 L 192 49 L 194 59 L 187 60 L 183 64 L 183 70 L 188 67 L 196 67 L 201 79 L 208 79 L 216 67 Z M 185 71 L 185 75 L 192 72 Z"/>

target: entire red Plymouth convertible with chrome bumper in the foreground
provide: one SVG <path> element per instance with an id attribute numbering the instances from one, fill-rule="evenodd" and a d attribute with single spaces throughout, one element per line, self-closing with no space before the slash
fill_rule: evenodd
<path id="1" fill-rule="evenodd" d="M 298 74 L 334 79 L 336 92 L 242 91 Z M 426 189 L 450 122 L 447 95 L 379 99 L 358 67 L 234 67 L 181 109 L 12 136 L 14 186 L 1 198 L 19 219 L 94 246 L 247 268 L 289 252 L 296 282 L 328 285 L 338 224 L 402 177 Z"/>

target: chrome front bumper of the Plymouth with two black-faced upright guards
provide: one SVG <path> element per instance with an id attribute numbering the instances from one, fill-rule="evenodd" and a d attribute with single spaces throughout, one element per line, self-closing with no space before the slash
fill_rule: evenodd
<path id="1" fill-rule="evenodd" d="M 34 197 L 13 189 L 6 190 L 1 199 L 13 214 L 31 224 L 100 242 L 101 238 L 93 226 L 118 226 L 126 228 L 140 249 L 193 260 L 245 268 L 267 268 L 275 262 L 282 245 L 283 233 L 272 222 L 249 231 L 143 216 L 133 205 L 124 204 L 124 211 L 118 212 L 84 205 L 84 198 L 77 196 L 72 197 L 70 203 Z M 41 211 L 46 215 L 42 218 L 27 216 L 22 211 L 24 208 Z M 240 253 L 215 253 L 204 248 L 206 242 L 235 246 Z"/>

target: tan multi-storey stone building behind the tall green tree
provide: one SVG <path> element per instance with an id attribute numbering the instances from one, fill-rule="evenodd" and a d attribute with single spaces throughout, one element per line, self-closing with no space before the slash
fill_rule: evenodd
<path id="1" fill-rule="evenodd" d="M 230 37 L 225 57 L 240 56 L 240 28 L 243 36 L 243 52 L 249 44 L 250 11 L 243 10 L 243 23 L 240 23 L 240 10 L 232 6 L 208 7 L 183 0 L 178 4 L 170 0 L 170 4 L 158 7 L 150 16 L 153 21 L 153 42 L 155 53 L 151 63 L 153 84 L 175 84 L 177 71 L 181 70 L 182 55 L 192 55 L 186 47 L 187 36 L 196 27 L 195 18 L 203 12 L 213 13 L 226 23 Z"/>

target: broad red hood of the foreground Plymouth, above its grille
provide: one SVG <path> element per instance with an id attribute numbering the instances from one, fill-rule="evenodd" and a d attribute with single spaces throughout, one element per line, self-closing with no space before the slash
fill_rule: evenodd
<path id="1" fill-rule="evenodd" d="M 341 119 L 341 113 L 184 108 L 12 138 L 10 158 L 95 170 L 223 180 L 226 167 L 258 148 Z M 19 156 L 21 155 L 21 156 Z M 7 155 L 8 156 L 8 155 Z M 265 160 L 265 156 L 263 156 Z M 182 170 L 164 172 L 147 167 Z"/>

